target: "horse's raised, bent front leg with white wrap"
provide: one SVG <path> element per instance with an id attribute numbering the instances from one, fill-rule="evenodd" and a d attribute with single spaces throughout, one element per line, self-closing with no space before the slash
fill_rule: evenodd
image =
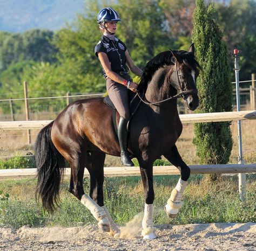
<path id="1" fill-rule="evenodd" d="M 167 204 L 165 205 L 165 211 L 169 217 L 175 218 L 183 204 L 181 199 L 187 186 L 187 180 L 190 177 L 190 168 L 181 159 L 176 145 L 173 145 L 171 151 L 165 154 L 164 157 L 176 166 L 181 174 L 176 187 L 172 190 L 171 197 L 167 200 Z"/>

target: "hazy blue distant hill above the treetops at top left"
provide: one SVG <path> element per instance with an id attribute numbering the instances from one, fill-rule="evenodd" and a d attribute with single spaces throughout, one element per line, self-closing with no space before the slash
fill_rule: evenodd
<path id="1" fill-rule="evenodd" d="M 0 0 L 0 31 L 59 30 L 84 10 L 84 0 Z"/>

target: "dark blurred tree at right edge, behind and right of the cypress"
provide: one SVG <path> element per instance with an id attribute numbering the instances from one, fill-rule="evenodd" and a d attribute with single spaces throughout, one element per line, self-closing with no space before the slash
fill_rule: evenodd
<path id="1" fill-rule="evenodd" d="M 217 19 L 224 31 L 228 51 L 242 51 L 239 72 L 240 80 L 251 79 L 255 73 L 256 2 L 253 0 L 231 0 L 228 4 L 216 4 Z M 233 67 L 233 58 L 230 58 Z"/>

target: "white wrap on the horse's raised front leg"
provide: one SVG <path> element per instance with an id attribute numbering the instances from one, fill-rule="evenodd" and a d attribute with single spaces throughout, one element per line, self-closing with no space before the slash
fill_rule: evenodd
<path id="1" fill-rule="evenodd" d="M 165 205 L 165 211 L 170 218 L 176 217 L 176 214 L 179 212 L 179 209 L 183 204 L 181 198 L 186 186 L 187 182 L 184 182 L 184 180 L 179 178 L 176 187 L 172 190 L 171 197 L 167 200 L 167 204 Z"/>

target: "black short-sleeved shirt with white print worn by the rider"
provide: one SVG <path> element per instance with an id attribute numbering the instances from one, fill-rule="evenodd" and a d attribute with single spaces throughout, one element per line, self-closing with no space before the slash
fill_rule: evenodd
<path id="1" fill-rule="evenodd" d="M 102 39 L 100 39 L 99 43 L 95 46 L 95 54 L 98 57 L 98 52 L 106 53 L 111 64 L 112 71 L 118 73 L 127 71 L 125 58 L 126 49 L 125 44 L 118 38 L 111 40 L 102 36 Z M 104 69 L 103 75 L 106 77 Z"/>

